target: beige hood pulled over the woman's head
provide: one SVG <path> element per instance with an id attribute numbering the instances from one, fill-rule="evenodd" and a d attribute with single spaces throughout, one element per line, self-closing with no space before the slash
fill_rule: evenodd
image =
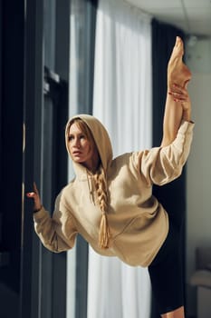
<path id="1" fill-rule="evenodd" d="M 103 126 L 101 122 L 91 114 L 77 114 L 69 119 L 68 123 L 66 124 L 65 129 L 65 142 L 66 142 L 66 148 L 68 153 L 68 134 L 69 134 L 69 128 L 70 128 L 70 122 L 74 118 L 80 118 L 82 121 L 88 125 L 88 127 L 91 130 L 91 134 L 93 136 L 93 139 L 95 141 L 95 144 L 98 148 L 98 152 L 101 156 L 101 164 L 104 169 L 104 171 L 107 171 L 107 168 L 110 164 L 110 161 L 112 160 L 112 147 L 110 143 L 110 136 Z M 71 154 L 70 154 L 71 155 Z"/>

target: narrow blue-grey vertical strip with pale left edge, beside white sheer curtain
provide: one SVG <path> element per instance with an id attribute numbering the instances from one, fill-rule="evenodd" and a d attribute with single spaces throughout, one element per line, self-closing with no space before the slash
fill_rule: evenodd
<path id="1" fill-rule="evenodd" d="M 71 1 L 69 117 L 92 114 L 97 0 Z M 69 162 L 68 179 L 74 172 Z M 78 235 L 76 249 L 67 253 L 68 318 L 87 316 L 88 243 Z"/>

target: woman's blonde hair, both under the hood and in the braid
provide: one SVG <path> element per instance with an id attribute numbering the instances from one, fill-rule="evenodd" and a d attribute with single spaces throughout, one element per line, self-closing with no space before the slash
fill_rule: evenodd
<path id="1" fill-rule="evenodd" d="M 85 134 L 87 139 L 91 141 L 91 146 L 96 146 L 93 135 L 91 134 L 91 129 L 88 127 L 86 123 L 80 118 L 75 117 L 69 123 L 67 131 L 69 131 L 72 124 L 77 124 L 78 127 L 82 130 L 82 133 Z M 105 171 L 102 167 L 98 169 L 98 171 L 93 175 L 93 181 L 95 190 L 97 193 L 98 204 L 101 208 L 101 224 L 100 224 L 100 232 L 99 232 L 99 246 L 102 249 L 109 248 L 110 245 L 110 228 L 107 220 L 106 212 L 108 210 L 108 191 L 107 191 L 107 179 Z"/>

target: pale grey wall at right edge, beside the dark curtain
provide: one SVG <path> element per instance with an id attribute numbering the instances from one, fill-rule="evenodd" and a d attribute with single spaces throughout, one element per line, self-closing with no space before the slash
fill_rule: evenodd
<path id="1" fill-rule="evenodd" d="M 196 314 L 196 289 L 189 285 L 195 271 L 197 246 L 211 246 L 211 40 L 187 46 L 192 71 L 189 93 L 196 123 L 187 162 L 187 312 Z"/>

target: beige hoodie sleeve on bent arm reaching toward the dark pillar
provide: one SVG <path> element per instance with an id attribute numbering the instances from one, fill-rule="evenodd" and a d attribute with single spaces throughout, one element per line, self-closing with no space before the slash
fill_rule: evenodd
<path id="1" fill-rule="evenodd" d="M 61 209 L 60 197 L 56 199 L 53 217 L 42 208 L 34 214 L 34 230 L 43 245 L 50 251 L 60 253 L 70 250 L 77 230 L 72 214 Z"/>

